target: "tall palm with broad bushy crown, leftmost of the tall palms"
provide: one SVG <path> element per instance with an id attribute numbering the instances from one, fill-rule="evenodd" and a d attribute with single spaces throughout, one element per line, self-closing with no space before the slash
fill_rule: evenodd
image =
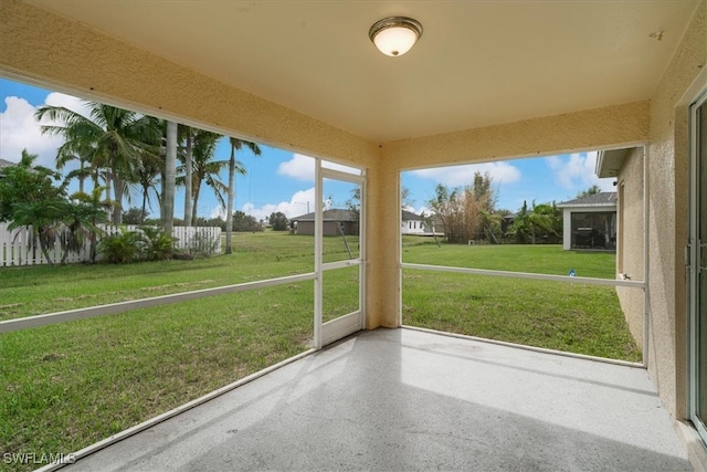
<path id="1" fill-rule="evenodd" d="M 63 106 L 42 106 L 34 117 L 46 117 L 61 125 L 43 125 L 43 134 L 63 136 L 57 159 L 65 153 L 74 151 L 84 156 L 96 169 L 107 169 L 105 174 L 106 196 L 114 193 L 113 223 L 120 224 L 122 202 L 127 183 L 134 179 L 135 168 L 144 155 L 156 155 L 161 137 L 157 120 L 136 112 L 86 102 L 89 117 Z M 85 153 L 85 154 L 84 154 Z"/>

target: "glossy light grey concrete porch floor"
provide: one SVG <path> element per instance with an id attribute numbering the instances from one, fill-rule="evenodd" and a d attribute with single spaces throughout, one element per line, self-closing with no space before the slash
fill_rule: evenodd
<path id="1" fill-rule="evenodd" d="M 67 470 L 693 470 L 644 369 L 362 332 Z"/>

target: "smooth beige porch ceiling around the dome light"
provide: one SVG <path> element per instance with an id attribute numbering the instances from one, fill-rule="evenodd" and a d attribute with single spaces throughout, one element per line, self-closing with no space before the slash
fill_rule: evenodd
<path id="1" fill-rule="evenodd" d="M 31 3 L 384 143 L 646 99 L 698 0 Z M 424 33 L 388 57 L 398 14 Z"/>

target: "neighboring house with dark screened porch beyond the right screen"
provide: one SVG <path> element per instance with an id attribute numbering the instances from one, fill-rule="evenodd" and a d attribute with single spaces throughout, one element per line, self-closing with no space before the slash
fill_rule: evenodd
<path id="1" fill-rule="evenodd" d="M 616 192 L 588 195 L 558 204 L 562 249 L 616 249 Z"/>

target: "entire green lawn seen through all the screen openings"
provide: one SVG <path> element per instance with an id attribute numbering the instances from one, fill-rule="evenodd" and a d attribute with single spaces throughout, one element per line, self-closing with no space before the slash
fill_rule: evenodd
<path id="1" fill-rule="evenodd" d="M 340 238 L 324 252 L 348 259 Z M 307 273 L 313 253 L 312 237 L 265 232 L 235 234 L 233 254 L 197 261 L 0 269 L 0 319 Z M 403 239 L 404 262 L 437 265 L 613 277 L 613 258 Z M 325 321 L 358 306 L 357 268 L 325 273 L 324 287 Z M 306 350 L 313 293 L 303 282 L 0 335 L 0 457 L 76 451 Z M 641 358 L 612 287 L 405 269 L 403 323 Z"/>

